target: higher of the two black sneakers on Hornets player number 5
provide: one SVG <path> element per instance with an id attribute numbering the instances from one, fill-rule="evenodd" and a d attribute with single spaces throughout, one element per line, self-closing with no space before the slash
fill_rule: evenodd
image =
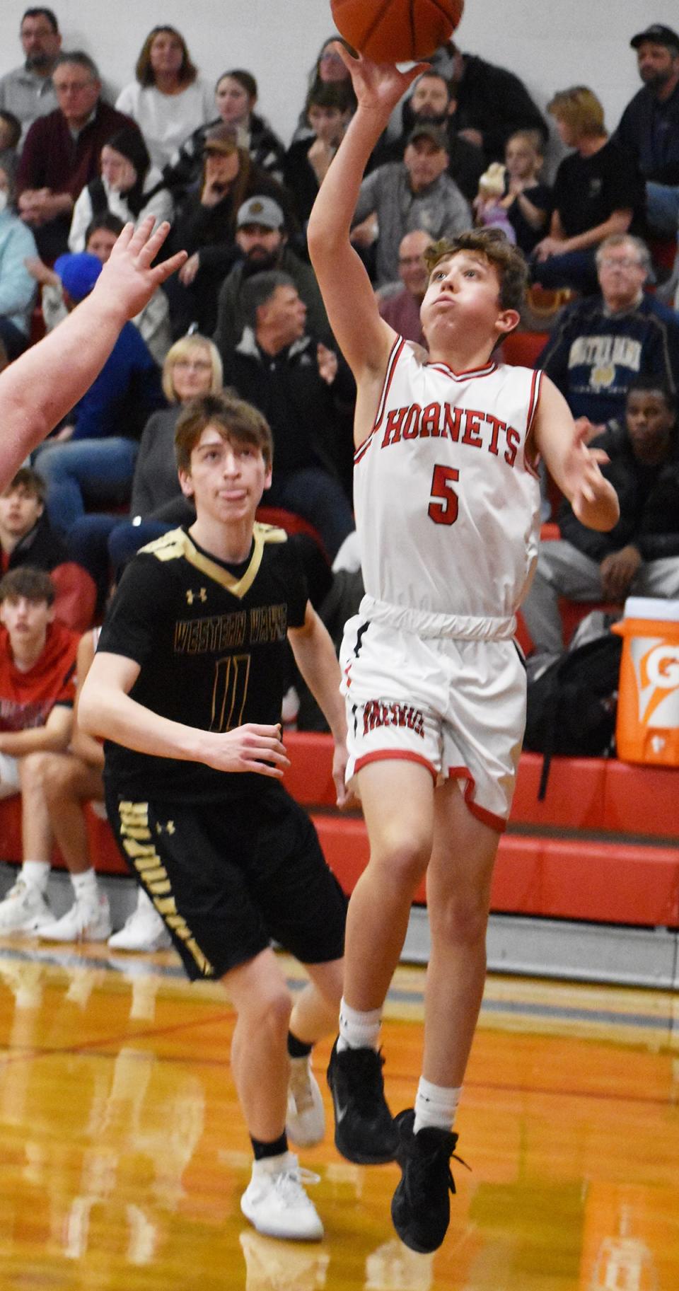
<path id="1" fill-rule="evenodd" d="M 359 1166 L 394 1161 L 399 1136 L 385 1099 L 385 1060 L 373 1048 L 337 1051 L 333 1044 L 328 1084 L 334 1106 L 334 1145 Z"/>

